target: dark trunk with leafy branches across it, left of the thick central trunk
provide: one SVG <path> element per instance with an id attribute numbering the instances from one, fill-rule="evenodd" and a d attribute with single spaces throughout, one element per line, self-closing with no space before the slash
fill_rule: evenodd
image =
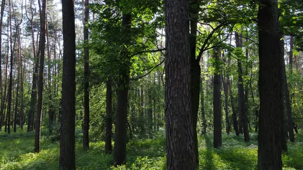
<path id="1" fill-rule="evenodd" d="M 131 14 L 123 14 L 122 18 L 123 31 L 130 32 Z M 121 66 L 119 68 L 118 79 L 118 102 L 117 114 L 115 122 L 115 152 L 113 155 L 113 164 L 115 166 L 122 165 L 126 160 L 126 117 L 128 102 L 128 86 L 129 86 L 129 57 L 127 50 L 121 52 Z"/>

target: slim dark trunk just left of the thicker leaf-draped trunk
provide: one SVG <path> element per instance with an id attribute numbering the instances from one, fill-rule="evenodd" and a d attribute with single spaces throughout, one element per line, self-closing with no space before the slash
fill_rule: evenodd
<path id="1" fill-rule="evenodd" d="M 110 154 L 111 146 L 111 129 L 112 129 L 112 106 L 111 106 L 111 80 L 106 82 L 106 131 L 105 131 L 105 153 Z"/>

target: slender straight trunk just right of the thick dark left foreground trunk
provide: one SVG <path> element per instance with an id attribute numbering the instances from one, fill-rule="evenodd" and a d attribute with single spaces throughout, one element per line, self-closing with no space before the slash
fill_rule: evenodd
<path id="1" fill-rule="evenodd" d="M 84 3 L 84 24 L 88 23 L 89 19 L 89 0 Z M 83 30 L 84 42 L 88 42 L 88 28 L 84 25 Z M 89 50 L 88 46 L 84 47 L 84 121 L 83 121 L 83 148 L 89 148 Z"/>

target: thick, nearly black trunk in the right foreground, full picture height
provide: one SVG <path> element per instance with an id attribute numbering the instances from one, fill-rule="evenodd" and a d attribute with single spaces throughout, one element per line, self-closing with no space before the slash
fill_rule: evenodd
<path id="1" fill-rule="evenodd" d="M 259 1 L 258 169 L 282 169 L 283 96 L 277 0 Z"/>

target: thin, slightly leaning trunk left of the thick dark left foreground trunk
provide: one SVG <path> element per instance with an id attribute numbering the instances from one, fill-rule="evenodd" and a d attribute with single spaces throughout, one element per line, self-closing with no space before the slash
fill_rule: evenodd
<path id="1" fill-rule="evenodd" d="M 39 80 L 38 86 L 38 102 L 37 102 L 37 115 L 35 122 L 35 147 L 34 152 L 40 152 L 40 138 L 41 138 L 41 121 L 42 121 L 42 100 L 43 100 L 43 73 L 44 73 L 44 56 L 45 56 L 45 24 L 46 24 L 46 0 L 42 0 L 42 7 L 40 1 L 40 39 L 39 39 L 39 51 L 37 58 L 40 57 L 39 65 Z"/>

